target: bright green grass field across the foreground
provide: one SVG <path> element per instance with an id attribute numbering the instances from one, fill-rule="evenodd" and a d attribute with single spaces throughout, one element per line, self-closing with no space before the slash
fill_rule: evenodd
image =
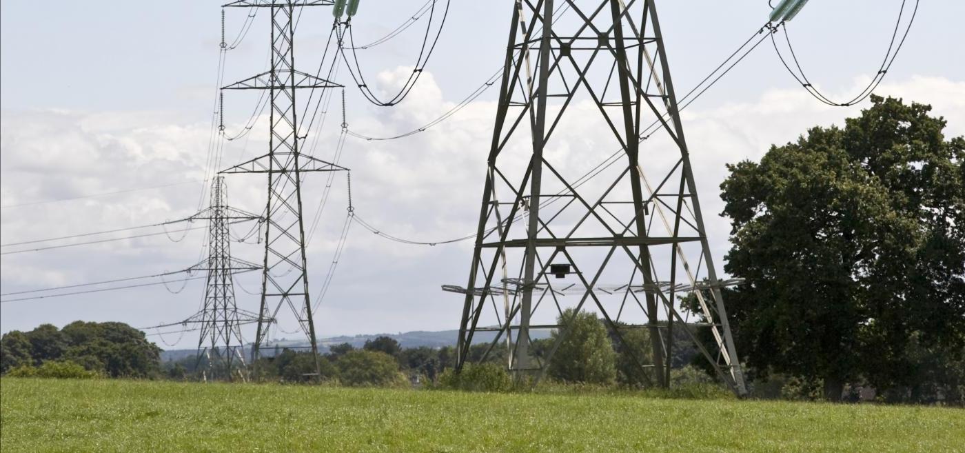
<path id="1" fill-rule="evenodd" d="M 965 411 L 630 394 L 0 380 L 3 453 L 965 452 Z"/>

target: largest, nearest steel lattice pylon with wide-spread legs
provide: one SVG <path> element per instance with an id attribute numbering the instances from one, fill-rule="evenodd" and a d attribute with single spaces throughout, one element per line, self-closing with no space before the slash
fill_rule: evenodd
<path id="1" fill-rule="evenodd" d="M 598 133 L 581 141 L 565 128 Z M 514 2 L 477 233 L 468 285 L 444 287 L 465 294 L 457 369 L 474 335 L 494 331 L 483 357 L 505 341 L 510 370 L 538 381 L 567 335 L 562 296 L 575 294 L 571 308 L 589 302 L 625 348 L 628 329 L 648 330 L 649 358 L 631 351 L 648 381 L 669 384 L 676 327 L 746 394 L 720 291 L 733 282 L 713 265 L 654 0 Z M 716 351 L 687 322 L 683 296 Z M 536 329 L 559 332 L 541 357 L 530 352 Z"/>

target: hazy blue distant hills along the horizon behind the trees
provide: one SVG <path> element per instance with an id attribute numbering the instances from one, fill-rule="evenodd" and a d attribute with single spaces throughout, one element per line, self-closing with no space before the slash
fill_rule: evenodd
<path id="1" fill-rule="evenodd" d="M 387 336 L 394 338 L 399 342 L 402 348 L 419 348 L 421 346 L 427 346 L 429 348 L 443 348 L 446 346 L 455 346 L 455 340 L 458 337 L 458 330 L 438 330 L 438 331 L 426 331 L 426 330 L 415 330 L 411 332 L 403 333 L 373 333 L 371 335 L 354 335 L 354 336 L 336 336 L 330 338 L 321 338 L 318 340 L 318 350 L 322 354 L 328 352 L 328 348 L 335 345 L 341 345 L 343 343 L 348 343 L 355 348 L 361 348 L 365 345 L 367 340 L 372 340 L 375 337 Z M 482 343 L 485 341 L 492 341 L 495 337 L 496 332 L 477 332 L 473 337 L 473 344 Z M 530 332 L 533 339 L 547 338 L 549 337 L 548 330 L 533 330 Z M 251 345 L 247 345 L 246 349 L 250 348 Z M 308 346 L 308 342 L 305 340 L 278 340 L 271 344 L 262 347 L 267 353 L 268 350 L 273 350 L 275 347 L 280 349 L 285 348 L 299 348 Z M 184 357 L 190 357 L 196 353 L 194 349 L 186 350 L 170 350 L 161 353 L 162 361 L 169 360 L 179 360 Z M 267 353 L 271 354 L 271 353 Z"/>

